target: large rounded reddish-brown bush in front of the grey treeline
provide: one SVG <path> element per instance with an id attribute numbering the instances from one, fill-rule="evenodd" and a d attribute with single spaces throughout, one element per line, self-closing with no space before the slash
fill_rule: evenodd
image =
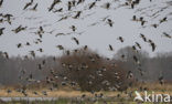
<path id="1" fill-rule="evenodd" d="M 92 50 L 78 49 L 77 52 L 63 54 L 58 62 L 58 74 L 66 82 L 75 82 L 82 91 L 123 90 L 126 73 L 114 61 Z M 63 79 L 64 80 L 64 79 Z"/>

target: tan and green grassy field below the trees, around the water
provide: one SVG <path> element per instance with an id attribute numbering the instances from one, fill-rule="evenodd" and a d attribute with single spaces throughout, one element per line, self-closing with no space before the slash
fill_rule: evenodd
<path id="1" fill-rule="evenodd" d="M 26 93 L 29 97 L 56 97 L 57 100 L 53 101 L 10 101 L 2 102 L 0 104 L 164 104 L 164 103 L 137 103 L 133 102 L 135 91 L 139 91 L 139 86 L 147 87 L 148 92 L 154 92 L 155 94 L 170 94 L 172 95 L 172 84 L 160 85 L 157 83 L 147 83 L 135 85 L 135 87 L 130 87 L 127 92 L 96 92 L 97 95 L 104 94 L 103 97 L 95 97 L 95 94 L 89 92 L 80 92 L 73 90 L 53 90 L 50 91 L 47 87 L 42 89 L 28 89 Z M 11 92 L 8 93 L 8 90 Z M 34 92 L 37 94 L 35 95 Z M 43 92 L 46 92 L 47 95 L 44 95 Z M 129 92 L 132 92 L 131 97 L 129 97 Z M 141 91 L 139 91 L 141 92 Z M 143 93 L 143 91 L 141 92 Z M 82 96 L 85 95 L 83 98 Z M 0 97 L 23 97 L 21 92 L 17 92 L 13 87 L 1 87 L 0 89 Z M 172 104 L 172 103 L 169 103 Z"/>

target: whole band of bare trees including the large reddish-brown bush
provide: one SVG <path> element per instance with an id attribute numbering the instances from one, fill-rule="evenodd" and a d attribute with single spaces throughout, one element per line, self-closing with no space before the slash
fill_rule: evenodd
<path id="1" fill-rule="evenodd" d="M 139 64 L 133 56 L 138 58 Z M 120 49 L 111 59 L 90 49 L 35 59 L 6 59 L 0 52 L 0 85 L 52 81 L 61 85 L 77 85 L 83 91 L 122 90 L 135 82 L 158 82 L 160 76 L 171 82 L 171 63 L 172 52 L 150 58 L 148 52 L 135 52 L 130 46 Z"/>

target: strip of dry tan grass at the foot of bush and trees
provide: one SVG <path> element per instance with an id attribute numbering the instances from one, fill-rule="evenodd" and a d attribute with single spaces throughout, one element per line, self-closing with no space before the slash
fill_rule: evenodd
<path id="1" fill-rule="evenodd" d="M 154 93 L 161 93 L 161 94 L 170 94 L 172 95 L 172 84 L 164 84 L 164 85 L 160 85 L 158 83 L 146 83 L 146 84 L 138 84 L 135 87 L 130 87 L 127 91 L 131 92 L 131 91 L 139 91 L 139 86 L 142 87 L 148 87 L 148 91 L 150 92 L 154 92 Z M 7 90 L 11 90 L 11 93 L 7 93 Z M 41 90 L 26 90 L 28 95 L 32 96 L 32 97 L 45 97 L 45 95 L 42 94 L 43 91 L 47 92 L 47 96 L 46 97 L 78 97 L 82 96 L 83 94 L 85 94 L 88 97 L 93 97 L 94 94 L 89 93 L 89 92 L 80 92 L 80 91 L 73 91 L 73 90 L 54 90 L 54 91 L 50 91 L 47 89 L 41 89 Z M 37 95 L 34 95 L 33 92 L 37 92 Z M 117 96 L 118 94 L 120 94 L 121 96 L 127 96 L 127 94 L 121 93 L 121 92 L 97 92 L 97 93 L 104 93 L 105 96 L 111 97 L 111 96 Z M 0 97 L 21 97 L 23 96 L 22 93 L 17 92 L 12 87 L 1 87 L 0 89 Z"/>

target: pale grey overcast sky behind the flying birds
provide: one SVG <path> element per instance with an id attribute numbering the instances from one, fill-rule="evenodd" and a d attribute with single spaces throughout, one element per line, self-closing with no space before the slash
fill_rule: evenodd
<path id="1" fill-rule="evenodd" d="M 139 42 L 142 50 L 146 50 L 150 55 L 154 55 L 158 52 L 170 52 L 172 51 L 172 39 L 162 37 L 162 32 L 166 32 L 172 35 L 172 7 L 166 8 L 164 11 L 158 13 L 154 18 L 149 15 L 159 11 L 161 8 L 166 7 L 169 3 L 166 1 L 171 0 L 141 0 L 140 4 L 135 9 L 129 7 L 119 7 L 125 0 L 101 0 L 96 3 L 90 10 L 83 11 L 79 19 L 68 18 L 67 20 L 57 22 L 62 15 L 72 14 L 74 17 L 76 11 L 86 9 L 93 0 L 85 0 L 86 2 L 73 8 L 71 13 L 66 10 L 67 0 L 63 0 L 61 4 L 56 4 L 55 8 L 64 8 L 61 13 L 49 12 L 53 0 L 34 0 L 33 6 L 37 2 L 37 10 L 31 11 L 29 7 L 28 10 L 22 10 L 26 2 L 30 0 L 3 0 L 3 4 L 0 8 L 0 13 L 11 13 L 13 14 L 12 24 L 8 22 L 0 23 L 0 28 L 6 28 L 4 33 L 0 37 L 0 51 L 8 52 L 10 55 L 25 55 L 29 51 L 34 50 L 36 55 L 60 55 L 62 51 L 55 46 L 58 44 L 64 45 L 66 49 L 74 50 L 75 48 L 80 48 L 83 45 L 88 45 L 90 49 L 97 51 L 106 56 L 112 56 L 119 49 L 127 45 L 133 45 L 135 42 Z M 110 1 L 111 8 L 109 10 L 101 8 L 104 3 Z M 172 2 L 172 1 L 171 1 Z M 142 11 L 138 11 L 142 10 Z M 131 21 L 132 15 L 144 17 L 146 28 L 142 28 L 140 22 Z M 110 28 L 107 22 L 103 22 L 103 18 L 108 17 L 114 21 L 114 27 Z M 168 17 L 168 21 L 161 23 L 157 29 L 151 27 L 153 23 L 159 23 L 160 19 Z M 29 19 L 30 18 L 30 19 Z M 90 24 L 98 22 L 96 25 L 90 27 Z M 21 31 L 18 34 L 14 33 L 13 29 L 22 24 L 28 27 L 25 31 Z M 39 38 L 33 32 L 39 30 L 39 27 L 43 27 L 46 32 L 53 31 L 52 34 L 44 33 L 42 38 L 42 43 L 34 44 L 34 41 Z M 73 32 L 69 27 L 76 25 L 76 33 L 71 35 L 55 37 L 57 33 L 71 33 Z M 34 29 L 35 28 L 35 29 Z M 82 34 L 77 34 L 83 32 Z M 143 42 L 139 37 L 143 33 L 148 39 L 151 39 L 157 44 L 157 50 L 152 52 L 151 46 Z M 72 38 L 75 37 L 79 40 L 79 45 L 77 45 Z M 118 37 L 122 37 L 125 42 L 121 43 L 117 40 Z M 26 42 L 31 43 L 31 46 L 24 45 Z M 17 48 L 18 43 L 22 43 L 21 49 Z M 111 44 L 115 51 L 109 51 L 108 45 Z M 36 50 L 42 48 L 43 53 Z"/>

